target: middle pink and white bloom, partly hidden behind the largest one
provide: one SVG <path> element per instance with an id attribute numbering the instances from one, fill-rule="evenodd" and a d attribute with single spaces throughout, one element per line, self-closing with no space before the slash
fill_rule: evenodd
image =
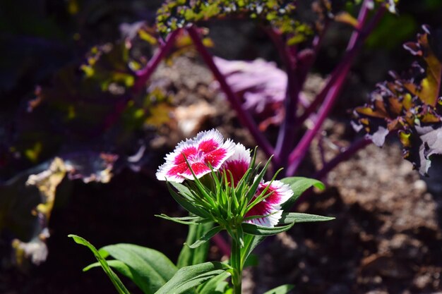
<path id="1" fill-rule="evenodd" d="M 250 161 L 250 150 L 238 143 L 234 147 L 234 154 L 222 164 L 220 171 L 227 172 L 227 180 L 230 185 L 232 185 L 230 183 L 230 173 L 232 173 L 233 186 L 236 187 L 239 180 L 249 169 Z"/>

